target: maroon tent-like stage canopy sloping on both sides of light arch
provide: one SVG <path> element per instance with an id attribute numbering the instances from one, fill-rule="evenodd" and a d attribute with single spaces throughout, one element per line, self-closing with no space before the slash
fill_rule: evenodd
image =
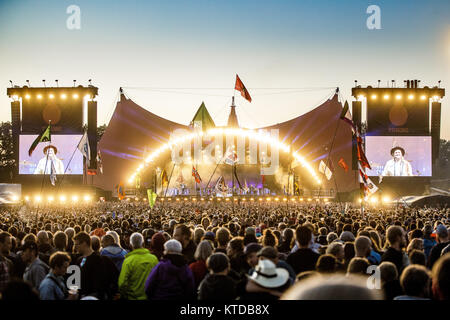
<path id="1" fill-rule="evenodd" d="M 350 126 L 339 119 L 341 111 L 342 105 L 334 95 L 304 115 L 264 129 L 278 129 L 279 139 L 301 154 L 317 171 L 320 160 L 328 156 L 336 126 L 339 126 L 331 160 L 337 190 L 346 192 L 358 188 L 358 183 L 355 171 L 345 172 L 338 166 L 341 158 L 350 168 L 352 164 L 352 133 Z M 161 118 L 122 94 L 99 142 L 104 174 L 95 176 L 94 184 L 113 190 L 119 182 L 126 182 L 143 161 L 144 154 L 168 142 L 170 133 L 175 129 L 188 129 L 188 126 Z M 321 188 L 336 190 L 334 179 L 327 181 L 322 177 L 321 180 L 324 182 Z"/>

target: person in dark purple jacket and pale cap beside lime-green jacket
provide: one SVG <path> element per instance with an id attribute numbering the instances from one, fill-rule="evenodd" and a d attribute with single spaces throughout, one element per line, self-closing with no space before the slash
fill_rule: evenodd
<path id="1" fill-rule="evenodd" d="M 195 280 L 182 254 L 178 240 L 164 243 L 162 260 L 152 269 L 145 282 L 145 293 L 149 300 L 193 300 Z"/>

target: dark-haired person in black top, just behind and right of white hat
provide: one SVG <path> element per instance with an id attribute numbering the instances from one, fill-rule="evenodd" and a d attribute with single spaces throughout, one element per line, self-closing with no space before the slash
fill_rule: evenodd
<path id="1" fill-rule="evenodd" d="M 297 227 L 296 242 L 298 250 L 289 254 L 286 262 L 291 265 L 296 274 L 303 271 L 314 270 L 316 267 L 319 254 L 314 252 L 310 246 L 313 243 L 313 233 L 306 226 Z"/>

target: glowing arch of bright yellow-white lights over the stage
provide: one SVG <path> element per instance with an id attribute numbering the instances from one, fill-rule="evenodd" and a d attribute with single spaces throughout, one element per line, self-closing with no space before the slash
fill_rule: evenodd
<path id="1" fill-rule="evenodd" d="M 300 164 L 305 167 L 308 172 L 311 174 L 311 176 L 314 178 L 317 184 L 321 184 L 321 181 L 319 177 L 317 176 L 316 172 L 312 168 L 312 166 L 305 160 L 304 157 L 302 157 L 298 152 L 292 152 L 291 153 L 291 147 L 285 143 L 283 143 L 281 140 L 274 139 L 267 134 L 255 132 L 254 130 L 244 130 L 244 129 L 231 129 L 231 128 L 215 128 L 210 129 L 207 132 L 199 131 L 195 133 L 191 133 L 188 135 L 185 135 L 180 138 L 173 139 L 172 141 L 169 141 L 168 143 L 163 144 L 161 147 L 153 151 L 144 161 L 144 163 L 141 163 L 139 167 L 135 170 L 135 172 L 130 176 L 128 179 L 128 183 L 132 183 L 133 180 L 136 178 L 136 175 L 144 169 L 145 163 L 153 162 L 157 157 L 159 157 L 163 152 L 170 150 L 173 146 L 183 144 L 187 141 L 191 141 L 198 137 L 203 137 L 204 135 L 207 136 L 214 136 L 216 134 L 225 134 L 226 136 L 239 136 L 244 138 L 251 138 L 255 139 L 257 142 L 265 142 L 269 144 L 270 146 L 277 146 L 278 149 L 290 153 L 295 160 L 300 162 Z"/>

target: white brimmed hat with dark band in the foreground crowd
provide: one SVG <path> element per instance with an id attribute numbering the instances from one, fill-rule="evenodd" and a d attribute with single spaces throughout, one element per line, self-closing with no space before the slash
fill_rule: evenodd
<path id="1" fill-rule="evenodd" d="M 288 281 L 289 272 L 284 268 L 277 268 L 272 261 L 264 259 L 259 260 L 255 271 L 249 278 L 261 287 L 278 288 Z"/>

